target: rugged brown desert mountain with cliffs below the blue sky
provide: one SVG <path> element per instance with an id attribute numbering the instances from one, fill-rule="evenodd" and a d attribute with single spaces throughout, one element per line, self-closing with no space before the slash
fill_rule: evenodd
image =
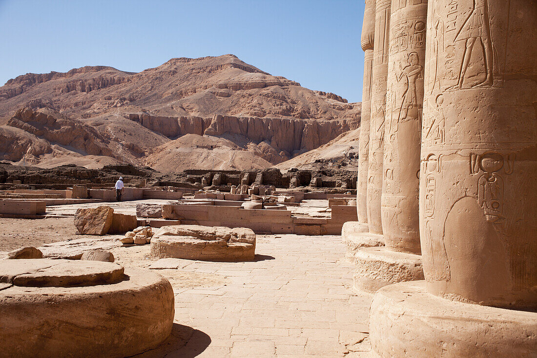
<path id="1" fill-rule="evenodd" d="M 130 73 L 93 66 L 0 87 L 0 159 L 161 171 L 270 167 L 358 127 L 361 104 L 234 55 Z"/>

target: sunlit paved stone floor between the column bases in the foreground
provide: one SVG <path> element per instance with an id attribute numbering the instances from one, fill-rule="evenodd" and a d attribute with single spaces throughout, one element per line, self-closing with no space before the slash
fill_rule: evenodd
<path id="1" fill-rule="evenodd" d="M 257 235 L 256 253 L 256 262 L 182 260 L 179 273 L 221 280 L 193 288 L 171 280 L 175 323 L 197 331 L 164 356 L 369 356 L 372 297 L 350 290 L 340 236 Z"/>

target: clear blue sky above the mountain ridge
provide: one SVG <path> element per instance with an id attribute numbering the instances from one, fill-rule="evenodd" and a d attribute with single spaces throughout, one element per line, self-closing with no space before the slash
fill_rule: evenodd
<path id="1" fill-rule="evenodd" d="M 232 53 L 360 102 L 364 0 L 0 0 L 0 84 L 106 65 L 138 72 Z"/>

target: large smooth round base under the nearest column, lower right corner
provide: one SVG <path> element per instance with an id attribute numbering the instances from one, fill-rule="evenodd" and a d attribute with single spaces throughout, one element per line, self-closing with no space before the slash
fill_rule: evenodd
<path id="1" fill-rule="evenodd" d="M 537 312 L 440 298 L 425 281 L 380 289 L 369 310 L 373 351 L 380 357 L 533 357 Z"/>

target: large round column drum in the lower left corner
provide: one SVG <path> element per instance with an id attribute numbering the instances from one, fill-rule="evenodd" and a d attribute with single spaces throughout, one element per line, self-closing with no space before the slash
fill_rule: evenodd
<path id="1" fill-rule="evenodd" d="M 72 260 L 0 262 L 0 356 L 124 357 L 171 332 L 173 290 L 147 270 Z"/>

